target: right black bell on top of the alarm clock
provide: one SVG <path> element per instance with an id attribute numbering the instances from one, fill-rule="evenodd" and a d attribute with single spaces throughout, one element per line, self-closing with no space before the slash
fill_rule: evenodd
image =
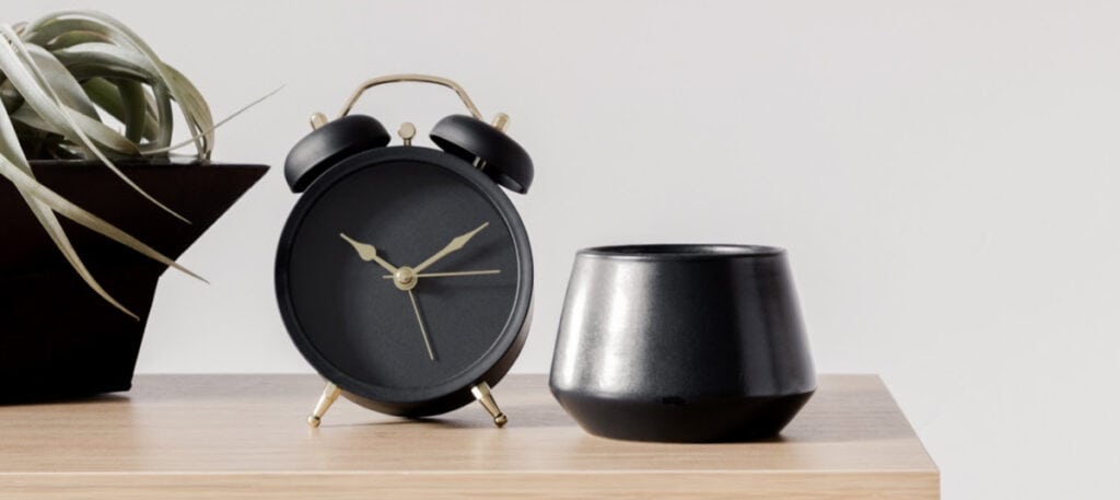
<path id="1" fill-rule="evenodd" d="M 533 160 L 516 141 L 474 117 L 452 114 L 432 127 L 429 135 L 445 151 L 467 161 L 482 158 L 483 172 L 514 193 L 525 194 L 533 184 Z"/>

